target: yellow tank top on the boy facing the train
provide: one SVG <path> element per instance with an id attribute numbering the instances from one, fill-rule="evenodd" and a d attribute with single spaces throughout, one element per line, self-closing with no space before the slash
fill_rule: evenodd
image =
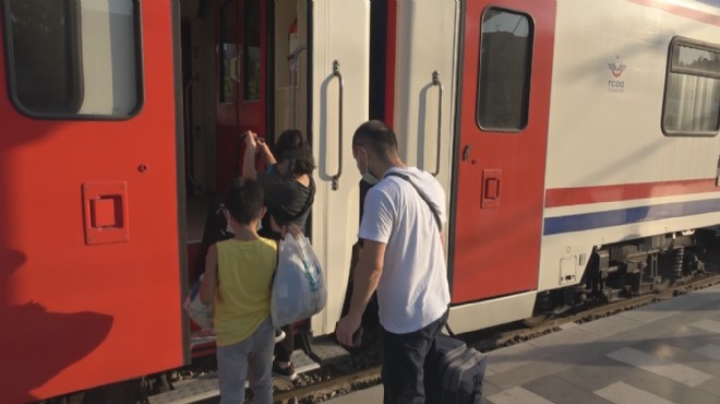
<path id="1" fill-rule="evenodd" d="M 217 345 L 249 337 L 269 316 L 277 245 L 260 238 L 217 243 L 218 289 L 215 294 Z"/>

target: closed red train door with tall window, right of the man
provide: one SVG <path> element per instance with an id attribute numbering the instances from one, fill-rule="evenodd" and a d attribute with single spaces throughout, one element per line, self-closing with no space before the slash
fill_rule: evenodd
<path id="1" fill-rule="evenodd" d="M 468 1 L 453 188 L 453 302 L 537 288 L 554 1 Z"/>

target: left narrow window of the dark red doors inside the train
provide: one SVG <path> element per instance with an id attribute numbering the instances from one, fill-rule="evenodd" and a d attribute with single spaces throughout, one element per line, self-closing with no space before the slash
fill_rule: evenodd
<path id="1" fill-rule="evenodd" d="M 218 88 L 218 102 L 220 104 L 235 103 L 235 81 L 238 79 L 238 47 L 232 39 L 235 32 L 235 15 L 232 13 L 233 2 L 228 1 L 219 10 L 219 62 L 220 85 Z"/>

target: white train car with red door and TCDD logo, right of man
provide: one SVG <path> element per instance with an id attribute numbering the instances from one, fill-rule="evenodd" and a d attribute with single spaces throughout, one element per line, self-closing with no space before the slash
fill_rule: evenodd
<path id="1" fill-rule="evenodd" d="M 454 329 L 529 318 L 545 292 L 586 283 L 612 298 L 613 260 L 645 270 L 628 287 L 657 286 L 658 252 L 720 224 L 719 2 L 396 12 L 393 123 L 447 191 Z"/>

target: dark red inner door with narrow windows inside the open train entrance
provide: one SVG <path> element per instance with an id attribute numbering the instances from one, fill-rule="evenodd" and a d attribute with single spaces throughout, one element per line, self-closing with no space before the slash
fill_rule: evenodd
<path id="1" fill-rule="evenodd" d="M 267 135 L 267 2 L 227 0 L 217 9 L 217 183 L 237 176 L 239 135 Z"/>

